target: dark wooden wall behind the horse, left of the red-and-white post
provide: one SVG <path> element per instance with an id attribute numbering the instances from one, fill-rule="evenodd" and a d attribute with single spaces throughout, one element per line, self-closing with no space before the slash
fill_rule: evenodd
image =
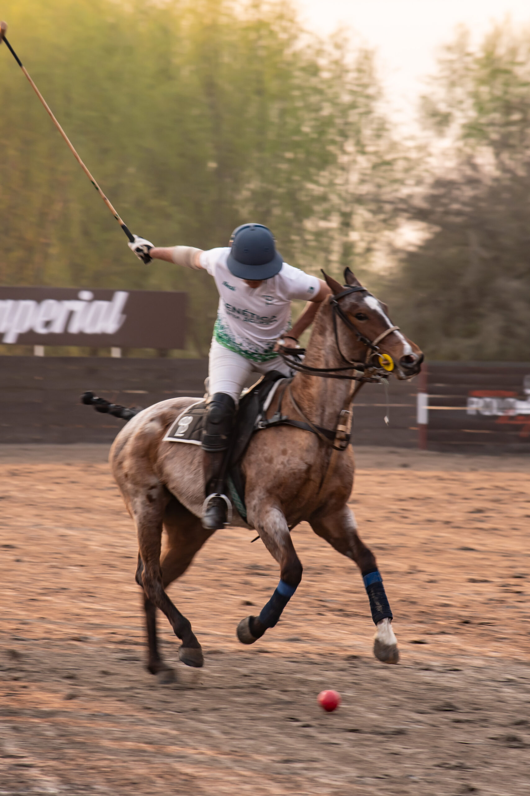
<path id="1" fill-rule="evenodd" d="M 112 443 L 123 421 L 79 403 L 85 390 L 116 404 L 150 406 L 204 393 L 207 360 L 0 357 L 0 443 Z M 416 380 L 366 384 L 354 408 L 358 445 L 416 447 Z"/>

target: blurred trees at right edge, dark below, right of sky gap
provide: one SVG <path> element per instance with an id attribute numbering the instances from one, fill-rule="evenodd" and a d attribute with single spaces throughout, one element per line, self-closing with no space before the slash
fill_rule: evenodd
<path id="1" fill-rule="evenodd" d="M 530 359 L 529 55 L 529 31 L 497 27 L 476 52 L 460 33 L 424 100 L 437 160 L 406 215 L 429 234 L 387 290 L 431 358 Z"/>

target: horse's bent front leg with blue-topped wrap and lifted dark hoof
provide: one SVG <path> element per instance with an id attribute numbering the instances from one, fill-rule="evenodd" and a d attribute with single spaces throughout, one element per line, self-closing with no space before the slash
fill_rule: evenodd
<path id="1" fill-rule="evenodd" d="M 253 525 L 269 553 L 280 564 L 280 583 L 259 616 L 247 616 L 238 624 L 238 639 L 253 644 L 269 627 L 274 627 L 296 587 L 302 579 L 302 564 L 292 544 L 284 513 L 277 507 L 253 507 L 253 516 L 260 517 Z M 249 513 L 250 517 L 250 513 Z"/>

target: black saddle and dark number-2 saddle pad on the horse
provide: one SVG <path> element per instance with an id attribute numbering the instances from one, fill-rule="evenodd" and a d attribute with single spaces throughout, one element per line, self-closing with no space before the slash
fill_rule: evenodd
<path id="1" fill-rule="evenodd" d="M 261 426 L 261 423 L 269 425 L 271 422 L 265 420 L 265 415 L 282 381 L 289 382 L 291 379 L 284 377 L 284 374 L 277 370 L 272 370 L 243 392 L 239 399 L 224 469 L 230 498 L 244 520 L 246 520 L 245 477 L 242 474 L 241 463 L 253 433 L 265 427 Z M 206 401 L 200 400 L 196 404 L 191 404 L 172 423 L 164 436 L 164 442 L 201 445 L 205 418 Z"/>

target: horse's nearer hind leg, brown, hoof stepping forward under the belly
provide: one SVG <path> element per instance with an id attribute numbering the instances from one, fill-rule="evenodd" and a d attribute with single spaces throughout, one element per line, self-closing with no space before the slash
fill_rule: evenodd
<path id="1" fill-rule="evenodd" d="M 161 537 L 162 523 L 164 521 L 164 511 L 168 505 L 168 493 L 164 487 L 159 485 L 157 488 L 151 487 L 145 501 L 138 497 L 132 505 L 132 513 L 136 522 L 138 534 L 138 546 L 140 548 L 141 572 L 138 572 L 139 580 L 144 588 L 145 596 L 149 603 L 160 608 L 168 617 L 168 620 L 177 638 L 182 641 L 179 649 L 180 660 L 190 666 L 203 665 L 203 652 L 195 634 L 191 630 L 191 624 L 180 611 L 177 611 L 172 601 L 164 589 L 161 568 Z M 157 653 L 156 626 L 153 627 L 153 608 L 149 603 L 145 603 L 146 618 L 148 619 L 148 638 L 149 633 L 153 633 L 153 660 L 156 661 Z M 151 651 L 151 650 L 150 650 Z"/>

